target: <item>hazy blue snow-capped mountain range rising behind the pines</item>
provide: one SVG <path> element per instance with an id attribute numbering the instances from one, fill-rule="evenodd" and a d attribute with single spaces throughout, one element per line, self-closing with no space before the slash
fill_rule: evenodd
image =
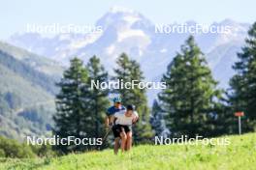
<path id="1" fill-rule="evenodd" d="M 147 80 L 159 81 L 167 65 L 172 61 L 182 44 L 190 35 L 188 32 L 171 34 L 158 33 L 157 23 L 152 23 L 143 14 L 129 9 L 112 8 L 99 18 L 95 26 L 102 26 L 102 33 L 60 34 L 46 38 L 37 33 L 14 35 L 9 42 L 29 51 L 47 56 L 50 59 L 68 64 L 73 56 L 79 56 L 85 62 L 97 55 L 108 71 L 115 66 L 116 57 L 126 52 L 140 62 Z M 166 24 L 180 26 L 181 24 Z M 186 27 L 197 26 L 195 21 L 187 21 Z M 196 42 L 207 55 L 208 65 L 220 87 L 228 87 L 228 79 L 233 75 L 232 65 L 237 52 L 243 44 L 248 23 L 239 23 L 231 19 L 213 22 L 214 28 L 229 28 L 227 32 L 194 34 Z M 149 100 L 156 92 L 148 92 Z"/>

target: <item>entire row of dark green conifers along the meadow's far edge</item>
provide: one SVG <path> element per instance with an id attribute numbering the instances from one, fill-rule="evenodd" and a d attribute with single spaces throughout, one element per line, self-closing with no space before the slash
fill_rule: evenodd
<path id="1" fill-rule="evenodd" d="M 226 91 L 217 87 L 206 56 L 190 36 L 176 53 L 162 76 L 167 88 L 147 106 L 146 89 L 96 89 L 91 80 L 106 82 L 123 79 L 144 81 L 140 64 L 122 53 L 116 60 L 117 67 L 110 76 L 100 59 L 93 56 L 84 66 L 75 57 L 63 73 L 57 86 L 56 114 L 53 133 L 60 137 L 103 137 L 104 117 L 110 106 L 109 95 L 119 94 L 123 104 L 134 104 L 140 122 L 134 128 L 135 143 L 145 143 L 155 135 L 203 135 L 205 137 L 233 134 L 238 131 L 236 111 L 243 111 L 243 132 L 256 128 L 256 23 L 248 31 L 245 45 L 238 53 L 239 61 L 233 69 L 237 72 Z M 107 141 L 107 142 L 110 142 Z M 83 145 L 57 146 L 63 153 L 86 151 L 95 147 Z"/>

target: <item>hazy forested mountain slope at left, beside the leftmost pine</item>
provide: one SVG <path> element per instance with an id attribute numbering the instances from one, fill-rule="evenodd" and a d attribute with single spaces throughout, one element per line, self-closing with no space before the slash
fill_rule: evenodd
<path id="1" fill-rule="evenodd" d="M 54 82 L 63 68 L 6 42 L 0 42 L 0 134 L 22 140 L 46 135 L 52 126 Z"/>

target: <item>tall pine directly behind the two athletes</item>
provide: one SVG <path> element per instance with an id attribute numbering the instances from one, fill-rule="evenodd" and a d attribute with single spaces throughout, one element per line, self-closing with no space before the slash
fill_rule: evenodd
<path id="1" fill-rule="evenodd" d="M 123 80 L 123 82 L 138 82 L 144 81 L 143 72 L 140 65 L 130 60 L 128 56 L 123 53 L 117 59 L 118 68 L 114 70 L 116 80 Z M 140 89 L 138 86 L 134 88 L 119 88 L 116 91 L 120 94 L 124 105 L 134 104 L 139 113 L 140 121 L 133 128 L 133 137 L 135 142 L 147 142 L 152 137 L 152 131 L 149 124 L 149 109 L 147 107 L 147 99 L 145 96 L 145 89 Z"/>

